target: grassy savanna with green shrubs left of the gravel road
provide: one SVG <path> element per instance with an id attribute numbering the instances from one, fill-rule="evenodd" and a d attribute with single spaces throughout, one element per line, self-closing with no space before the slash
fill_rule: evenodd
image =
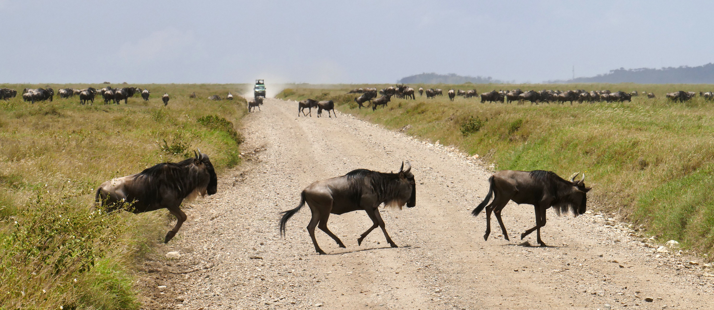
<path id="1" fill-rule="evenodd" d="M 21 100 L 25 87 L 87 86 L 0 84 L 18 91 L 0 101 L 0 309 L 138 309 L 132 266 L 175 219 L 166 210 L 93 210 L 97 186 L 197 148 L 219 178 L 240 162 L 242 85 L 131 85 L 150 89 L 151 99 L 136 94 L 119 105 L 99 95 L 92 105 L 77 96 Z M 235 100 L 206 99 L 228 91 Z"/>

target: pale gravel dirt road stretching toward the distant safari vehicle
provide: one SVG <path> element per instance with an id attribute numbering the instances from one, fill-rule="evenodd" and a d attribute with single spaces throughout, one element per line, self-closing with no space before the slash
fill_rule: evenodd
<path id="1" fill-rule="evenodd" d="M 187 209 L 179 238 L 146 262 L 146 308 L 714 309 L 703 261 L 658 257 L 596 214 L 548 211 L 549 246 L 521 246 L 533 207 L 511 204 L 503 211 L 511 241 L 498 228 L 484 241 L 483 213 L 470 214 L 491 175 L 480 162 L 344 114 L 296 117 L 294 101 L 267 99 L 261 110 L 244 131 L 244 149 L 256 152 L 220 179 L 218 194 Z M 329 255 L 313 249 L 308 208 L 279 236 L 278 212 L 297 206 L 311 182 L 358 168 L 397 171 L 403 159 L 413 164 L 417 206 L 382 212 L 400 248 L 378 229 L 358 246 L 371 226 L 363 212 L 330 218 L 347 249 L 316 231 Z M 535 234 L 526 241 L 535 244 Z M 182 256 L 166 259 L 169 251 Z"/>

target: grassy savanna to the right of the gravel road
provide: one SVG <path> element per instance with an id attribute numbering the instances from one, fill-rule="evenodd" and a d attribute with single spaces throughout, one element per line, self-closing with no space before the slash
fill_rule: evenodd
<path id="1" fill-rule="evenodd" d="M 714 102 L 696 96 L 665 99 L 671 91 L 711 91 L 713 85 L 461 84 L 410 85 L 443 89 L 444 96 L 395 99 L 386 109 L 358 109 L 346 94 L 375 85 L 297 86 L 278 98 L 333 99 L 342 113 L 479 154 L 495 169 L 584 171 L 590 207 L 618 214 L 660 240 L 675 239 L 699 254 L 714 250 Z M 388 85 L 376 85 L 378 89 Z M 653 92 L 656 99 L 567 104 L 481 104 L 448 89 L 586 89 Z M 407 126 L 411 125 L 411 126 Z"/>

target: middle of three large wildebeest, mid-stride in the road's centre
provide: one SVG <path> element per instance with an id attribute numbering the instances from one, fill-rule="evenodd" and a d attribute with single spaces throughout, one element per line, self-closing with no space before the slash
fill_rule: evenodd
<path id="1" fill-rule="evenodd" d="M 396 174 L 356 169 L 343 176 L 316 181 L 303 189 L 300 196 L 300 204 L 297 208 L 281 213 L 283 216 L 280 219 L 280 232 L 283 236 L 285 236 L 288 219 L 307 203 L 312 212 L 312 219 L 308 224 L 308 234 L 315 245 L 315 251 L 319 254 L 325 254 L 325 252 L 320 249 L 315 239 L 315 226 L 331 236 L 338 246 L 345 248 L 342 241 L 327 228 L 327 221 L 330 214 L 345 214 L 358 210 L 367 212 L 372 220 L 372 226 L 357 239 L 357 244 L 362 244 L 362 240 L 379 226 L 389 245 L 396 248 L 398 246 L 384 228 L 384 221 L 379 214 L 378 207 L 380 204 L 399 209 L 404 204 L 409 208 L 416 206 L 416 181 L 411 173 L 411 164 L 407 161 L 406 170 L 404 170 L 402 162 L 402 166 Z"/>

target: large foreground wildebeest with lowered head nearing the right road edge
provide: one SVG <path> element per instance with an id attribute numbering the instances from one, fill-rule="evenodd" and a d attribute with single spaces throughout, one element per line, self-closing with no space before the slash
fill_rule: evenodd
<path id="1" fill-rule="evenodd" d="M 575 181 L 575 176 L 578 174 L 570 176 L 570 181 L 565 181 L 552 171 L 543 170 L 501 170 L 493 174 L 488 179 L 490 186 L 486 198 L 471 212 L 473 216 L 478 216 L 481 210 L 486 207 L 486 234 L 483 235 L 483 239 L 488 240 L 488 234 L 491 234 L 491 211 L 493 211 L 498 224 L 501 225 L 504 238 L 509 240 L 506 226 L 503 226 L 503 220 L 501 220 L 501 210 L 508 204 L 508 201 L 513 200 L 516 204 L 532 204 L 535 207 L 535 226 L 521 234 L 521 239 L 537 230 L 538 244 L 545 246 L 543 240 L 540 240 L 540 227 L 545 226 L 545 210 L 553 206 L 558 215 L 568 211 L 574 216 L 585 213 L 585 203 L 590 187 L 585 187 L 585 174 L 583 174 L 583 179 Z M 493 202 L 488 204 L 491 196 L 493 196 Z"/>

